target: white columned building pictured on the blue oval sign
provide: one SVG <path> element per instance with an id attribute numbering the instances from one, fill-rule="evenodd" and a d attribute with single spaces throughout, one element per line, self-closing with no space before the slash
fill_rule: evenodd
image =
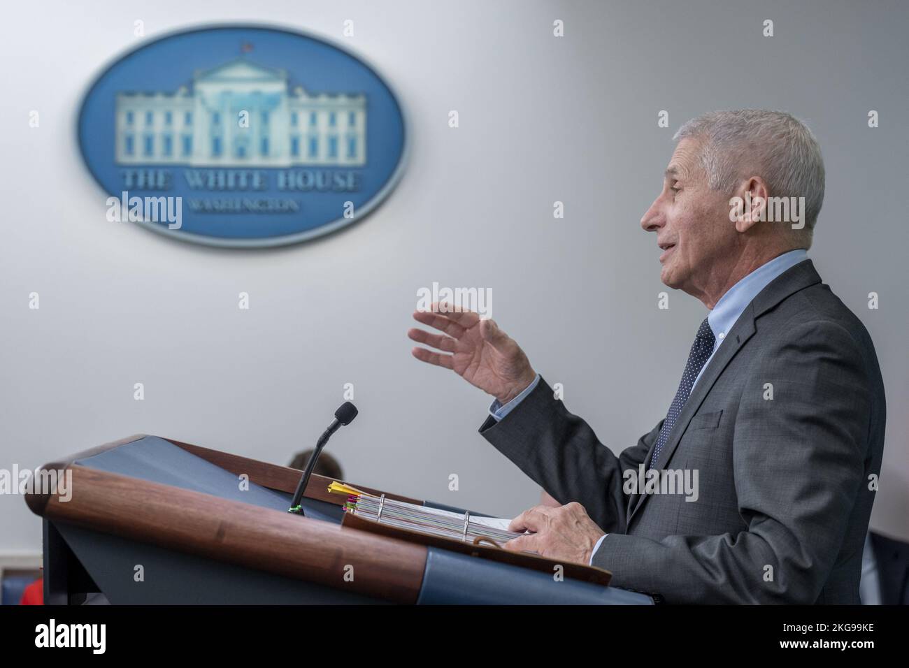
<path id="1" fill-rule="evenodd" d="M 238 58 L 196 72 L 192 89 L 117 93 L 120 165 L 362 166 L 366 97 L 288 89 L 284 70 Z"/>

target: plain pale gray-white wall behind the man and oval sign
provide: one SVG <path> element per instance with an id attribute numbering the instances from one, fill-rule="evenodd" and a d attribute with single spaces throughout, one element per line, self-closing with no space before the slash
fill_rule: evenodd
<path id="1" fill-rule="evenodd" d="M 0 467 L 35 467 L 127 434 L 286 464 L 355 384 L 360 416 L 329 449 L 348 479 L 488 513 L 538 489 L 476 429 L 487 398 L 416 362 L 416 290 L 490 287 L 496 321 L 614 450 L 664 415 L 704 307 L 658 311 L 658 251 L 638 225 L 670 137 L 709 109 L 783 108 L 814 128 L 827 194 L 812 257 L 867 325 L 890 415 L 872 524 L 909 539 L 904 336 L 906 7 L 672 2 L 103 0 L 5 7 L 0 55 Z M 883 5 L 883 4 L 882 4 Z M 823 7 L 823 9 L 822 9 Z M 761 21 L 776 36 L 760 36 Z M 355 37 L 341 35 L 345 19 Z M 552 36 L 552 21 L 565 36 Z M 405 177 L 363 223 L 272 251 L 180 244 L 106 223 L 75 145 L 100 65 L 178 27 L 252 20 L 348 45 L 411 120 Z M 845 35 L 845 36 L 844 36 Z M 41 126 L 27 125 L 38 110 Z M 449 110 L 460 127 L 447 126 Z M 670 113 L 670 128 L 656 114 Z M 865 125 L 869 109 L 881 127 Z M 555 200 L 565 203 L 554 220 Z M 27 307 L 30 292 L 39 311 Z M 237 294 L 251 309 L 237 308 Z M 869 311 L 866 295 L 881 295 Z M 622 353 L 618 354 L 617 351 Z M 133 384 L 145 384 L 145 401 Z M 448 491 L 448 475 L 460 491 Z M 40 546 L 21 497 L 0 497 L 0 550 Z"/>

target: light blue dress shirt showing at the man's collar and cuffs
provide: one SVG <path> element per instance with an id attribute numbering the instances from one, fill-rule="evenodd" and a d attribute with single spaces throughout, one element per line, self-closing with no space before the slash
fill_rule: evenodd
<path id="1" fill-rule="evenodd" d="M 714 343 L 714 352 L 707 358 L 706 363 L 704 363 L 704 366 L 701 368 L 701 373 L 697 374 L 697 378 L 694 379 L 695 385 L 701 379 L 701 374 L 704 374 L 704 369 L 707 368 L 707 364 L 710 364 L 710 360 L 714 358 L 717 349 L 723 345 L 726 334 L 732 329 L 735 321 L 743 314 L 748 304 L 752 303 L 754 297 L 764 290 L 767 284 L 773 281 L 778 275 L 783 274 L 787 269 L 791 269 L 795 264 L 799 264 L 807 259 L 808 254 L 804 248 L 796 248 L 794 251 L 778 255 L 770 262 L 762 264 L 751 274 L 745 276 L 720 297 L 720 301 L 718 301 L 711 312 L 707 314 L 707 324 L 710 325 L 710 329 L 714 333 L 716 339 Z M 507 404 L 499 404 L 499 400 L 496 399 L 493 402 L 493 405 L 489 407 L 489 413 L 492 414 L 496 421 L 501 420 L 505 415 L 511 413 L 514 410 L 514 407 L 517 404 L 520 404 L 527 394 L 533 392 L 534 387 L 539 383 L 540 374 L 536 374 L 534 382 L 529 384 L 524 392 L 515 396 L 514 399 Z M 594 551 L 590 553 L 590 563 L 594 563 L 594 554 L 600 549 L 600 545 L 607 535 L 609 534 L 604 533 L 600 536 L 600 540 L 594 545 Z"/>

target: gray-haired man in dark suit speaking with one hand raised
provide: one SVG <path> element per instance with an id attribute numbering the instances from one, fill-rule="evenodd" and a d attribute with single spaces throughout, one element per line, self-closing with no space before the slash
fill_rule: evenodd
<path id="1" fill-rule="evenodd" d="M 806 255 L 820 147 L 793 116 L 762 110 L 700 116 L 674 140 L 641 226 L 664 284 L 710 313 L 664 419 L 637 444 L 600 444 L 492 320 L 415 313 L 443 334 L 410 330 L 442 351 L 413 354 L 492 394 L 480 433 L 564 503 L 516 517 L 530 533 L 509 549 L 593 563 L 668 603 L 859 603 L 884 384 L 864 326 Z M 801 216 L 769 222 L 781 197 L 804 203 Z M 665 471 L 696 472 L 696 494 L 634 484 Z"/>

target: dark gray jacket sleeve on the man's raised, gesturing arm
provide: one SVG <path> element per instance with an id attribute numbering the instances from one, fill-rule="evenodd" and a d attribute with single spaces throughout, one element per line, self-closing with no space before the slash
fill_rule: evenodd
<path id="1" fill-rule="evenodd" d="M 486 418 L 480 434 L 556 501 L 581 503 L 604 532 L 624 533 L 629 496 L 622 491 L 623 472 L 644 462 L 662 424 L 616 457 L 541 377 L 501 421 Z"/>

